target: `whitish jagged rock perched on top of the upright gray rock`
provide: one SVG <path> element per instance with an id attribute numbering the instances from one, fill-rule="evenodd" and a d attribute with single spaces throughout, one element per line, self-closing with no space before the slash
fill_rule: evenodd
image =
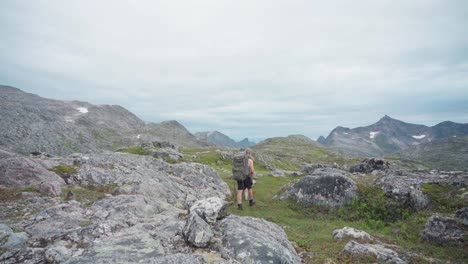
<path id="1" fill-rule="evenodd" d="M 231 203 L 218 197 L 209 197 L 199 200 L 190 207 L 190 213 L 196 213 L 207 223 L 214 224 L 228 215 L 227 207 Z"/>

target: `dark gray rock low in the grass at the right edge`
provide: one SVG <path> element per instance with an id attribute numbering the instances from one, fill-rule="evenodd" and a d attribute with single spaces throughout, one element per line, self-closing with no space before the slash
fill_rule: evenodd
<path id="1" fill-rule="evenodd" d="M 421 238 L 442 245 L 449 242 L 463 243 L 464 235 L 454 218 L 433 215 L 427 220 Z"/>

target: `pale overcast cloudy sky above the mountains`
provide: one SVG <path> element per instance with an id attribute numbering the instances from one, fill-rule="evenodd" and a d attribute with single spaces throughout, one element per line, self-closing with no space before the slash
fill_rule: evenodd
<path id="1" fill-rule="evenodd" d="M 0 84 L 234 139 L 468 123 L 468 1 L 9 1 Z"/>

